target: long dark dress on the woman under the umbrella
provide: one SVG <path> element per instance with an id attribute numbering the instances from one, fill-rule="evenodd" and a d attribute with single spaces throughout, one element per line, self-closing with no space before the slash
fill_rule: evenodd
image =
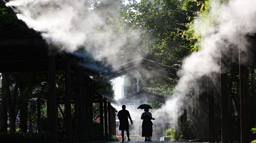
<path id="1" fill-rule="evenodd" d="M 143 121 L 142 121 L 142 135 L 141 137 L 150 137 L 152 136 L 152 132 L 153 132 L 153 127 L 152 127 L 152 121 L 150 119 L 150 116 L 147 115 L 146 116 L 143 115 Z"/>

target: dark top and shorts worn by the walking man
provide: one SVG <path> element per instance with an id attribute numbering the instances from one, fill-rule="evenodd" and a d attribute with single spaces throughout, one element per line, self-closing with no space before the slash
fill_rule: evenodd
<path id="1" fill-rule="evenodd" d="M 129 129 L 128 116 L 130 116 L 129 111 L 122 109 L 118 112 L 117 116 L 120 121 L 119 130 L 128 130 Z"/>

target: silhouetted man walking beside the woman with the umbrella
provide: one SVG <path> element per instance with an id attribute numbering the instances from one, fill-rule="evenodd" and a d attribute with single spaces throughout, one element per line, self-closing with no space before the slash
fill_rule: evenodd
<path id="1" fill-rule="evenodd" d="M 125 110 L 126 106 L 122 105 L 122 110 L 120 110 L 117 114 L 118 119 L 120 121 L 120 126 L 119 126 L 119 130 L 122 131 L 122 142 L 124 142 L 124 130 L 126 130 L 126 134 L 127 134 L 127 140 L 130 141 L 131 139 L 129 138 L 129 121 L 128 118 L 131 121 L 132 124 L 132 118 L 130 116 L 130 113 L 128 110 Z"/>

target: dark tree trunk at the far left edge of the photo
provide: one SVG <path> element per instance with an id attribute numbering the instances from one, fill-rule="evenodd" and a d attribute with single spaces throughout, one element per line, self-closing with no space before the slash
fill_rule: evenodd
<path id="1" fill-rule="evenodd" d="M 6 97 L 6 79 L 5 75 L 6 73 L 2 73 L 3 78 L 2 78 L 2 93 L 1 93 L 1 106 L 0 106 L 0 127 L 3 127 L 4 132 L 7 132 L 7 120 L 8 120 L 8 114 L 7 114 L 7 97 Z"/>

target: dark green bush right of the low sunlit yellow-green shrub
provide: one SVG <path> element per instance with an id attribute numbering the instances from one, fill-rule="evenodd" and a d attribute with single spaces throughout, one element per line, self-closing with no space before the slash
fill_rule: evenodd
<path id="1" fill-rule="evenodd" d="M 189 140 L 199 139 L 199 135 L 195 128 L 193 119 L 189 119 L 188 121 L 181 123 L 179 127 L 181 132 L 181 135 L 180 135 L 181 139 L 189 139 Z"/>

